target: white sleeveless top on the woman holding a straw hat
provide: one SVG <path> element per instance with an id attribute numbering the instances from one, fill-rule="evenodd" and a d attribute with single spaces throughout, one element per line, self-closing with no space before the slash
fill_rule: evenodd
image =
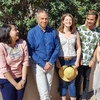
<path id="1" fill-rule="evenodd" d="M 70 39 L 67 39 L 63 36 L 63 33 L 59 32 L 60 39 L 60 52 L 59 57 L 68 57 L 76 56 L 75 42 L 76 42 L 76 33 Z"/>

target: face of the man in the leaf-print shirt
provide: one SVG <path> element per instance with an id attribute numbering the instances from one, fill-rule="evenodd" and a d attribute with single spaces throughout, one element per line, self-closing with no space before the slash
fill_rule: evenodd
<path id="1" fill-rule="evenodd" d="M 88 28 L 94 28 L 96 23 L 96 16 L 95 15 L 87 15 L 86 18 L 86 26 Z"/>

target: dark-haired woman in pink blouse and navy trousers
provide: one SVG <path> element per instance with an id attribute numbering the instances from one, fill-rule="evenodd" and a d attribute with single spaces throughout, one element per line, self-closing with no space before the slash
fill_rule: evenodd
<path id="1" fill-rule="evenodd" d="M 0 91 L 3 100 L 22 100 L 26 86 L 28 48 L 14 25 L 0 28 Z"/>

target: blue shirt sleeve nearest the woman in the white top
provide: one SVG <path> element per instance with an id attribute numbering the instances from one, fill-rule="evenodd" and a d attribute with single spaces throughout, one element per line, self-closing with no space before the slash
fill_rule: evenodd
<path id="1" fill-rule="evenodd" d="M 54 52 L 49 60 L 51 64 L 54 64 L 54 62 L 56 61 L 60 50 L 60 41 L 56 31 L 54 31 L 54 44 L 55 44 Z"/>

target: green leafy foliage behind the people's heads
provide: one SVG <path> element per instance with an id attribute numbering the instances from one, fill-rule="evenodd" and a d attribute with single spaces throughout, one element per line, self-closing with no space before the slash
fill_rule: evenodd
<path id="1" fill-rule="evenodd" d="M 63 13 L 71 13 L 76 25 L 83 24 L 86 13 L 91 10 L 100 11 L 99 0 L 0 0 L 0 25 L 14 23 L 22 38 L 27 31 L 36 25 L 35 12 L 45 8 L 49 13 L 49 25 L 58 28 Z"/>

